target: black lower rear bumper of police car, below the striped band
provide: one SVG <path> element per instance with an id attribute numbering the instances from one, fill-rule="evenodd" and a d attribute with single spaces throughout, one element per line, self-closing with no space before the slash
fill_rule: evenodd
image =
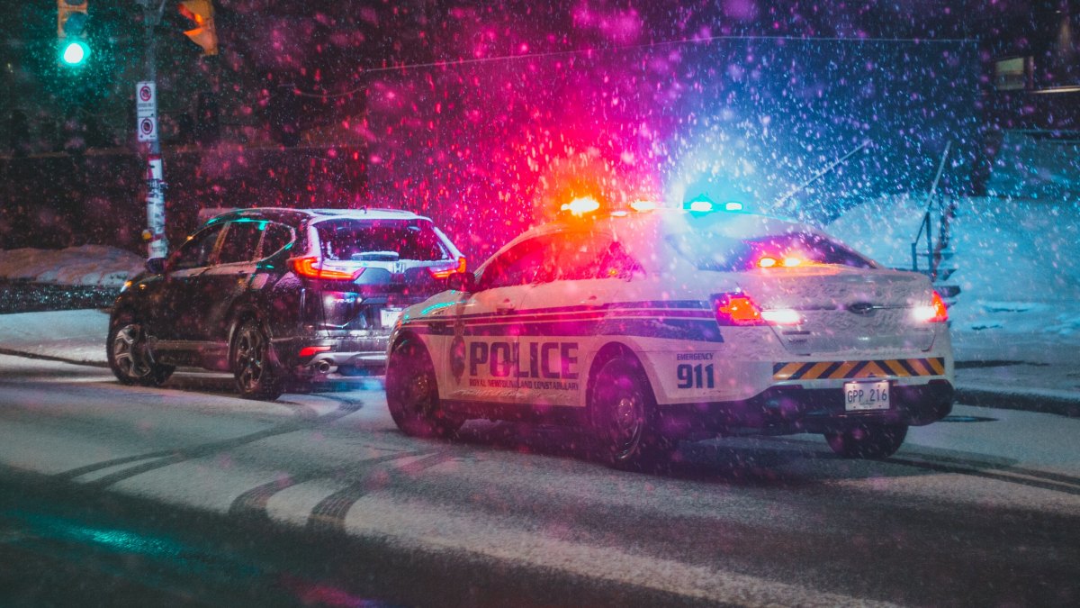
<path id="1" fill-rule="evenodd" d="M 953 411 L 953 384 L 932 380 L 892 388 L 888 410 L 848 412 L 837 388 L 773 386 L 743 401 L 676 404 L 658 408 L 663 433 L 679 438 L 716 435 L 825 433 L 853 424 L 930 424 Z"/>

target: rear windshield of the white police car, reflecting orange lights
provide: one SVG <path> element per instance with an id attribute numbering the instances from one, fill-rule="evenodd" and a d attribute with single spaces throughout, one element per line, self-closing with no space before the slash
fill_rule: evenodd
<path id="1" fill-rule="evenodd" d="M 811 233 L 767 235 L 737 239 L 715 234 L 670 235 L 667 242 L 701 270 L 735 273 L 759 267 L 764 257 L 802 263 L 875 268 L 877 265 L 851 249 Z"/>

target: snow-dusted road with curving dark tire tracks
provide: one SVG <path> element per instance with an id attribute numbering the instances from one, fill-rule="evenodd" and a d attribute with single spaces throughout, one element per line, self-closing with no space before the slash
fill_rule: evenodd
<path id="1" fill-rule="evenodd" d="M 727 439 L 640 475 L 564 429 L 405 437 L 380 389 L 230 391 L 0 356 L 0 604 L 1080 602 L 1080 420 L 959 406 L 888 462 Z"/>

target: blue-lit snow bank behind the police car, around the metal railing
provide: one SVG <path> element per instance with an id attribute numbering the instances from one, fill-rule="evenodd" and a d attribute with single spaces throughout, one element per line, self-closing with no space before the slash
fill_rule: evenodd
<path id="1" fill-rule="evenodd" d="M 887 198 L 826 229 L 887 266 L 910 268 L 924 211 L 924 198 Z M 1080 338 L 1080 206 L 962 199 L 950 234 L 944 266 L 957 268 L 947 282 L 961 289 L 949 312 L 955 329 Z"/>

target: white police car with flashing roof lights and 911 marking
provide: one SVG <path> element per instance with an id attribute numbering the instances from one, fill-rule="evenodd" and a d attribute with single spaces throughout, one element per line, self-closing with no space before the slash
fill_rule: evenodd
<path id="1" fill-rule="evenodd" d="M 576 424 L 640 467 L 735 434 L 886 458 L 949 413 L 948 315 L 926 276 L 738 206 L 634 207 L 531 229 L 407 308 L 388 353 L 396 424 Z"/>

